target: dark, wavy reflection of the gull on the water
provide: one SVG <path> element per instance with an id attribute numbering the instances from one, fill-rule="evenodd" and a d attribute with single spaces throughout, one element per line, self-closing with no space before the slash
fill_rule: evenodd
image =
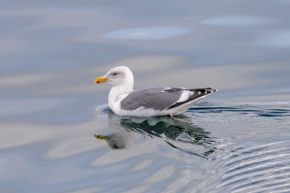
<path id="1" fill-rule="evenodd" d="M 142 135 L 143 138 L 163 138 L 173 148 L 206 159 L 216 150 L 212 146 L 215 141 L 211 139 L 211 133 L 190 122 L 180 122 L 166 116 L 121 117 L 109 110 L 108 123 L 114 132 L 107 135 L 95 135 L 95 137 L 105 140 L 111 149 L 129 148 L 134 144 L 134 135 Z M 190 146 L 191 149 L 189 145 L 193 145 Z M 198 153 L 194 152 L 193 148 L 197 146 L 202 147 L 202 152 L 200 150 Z"/>

